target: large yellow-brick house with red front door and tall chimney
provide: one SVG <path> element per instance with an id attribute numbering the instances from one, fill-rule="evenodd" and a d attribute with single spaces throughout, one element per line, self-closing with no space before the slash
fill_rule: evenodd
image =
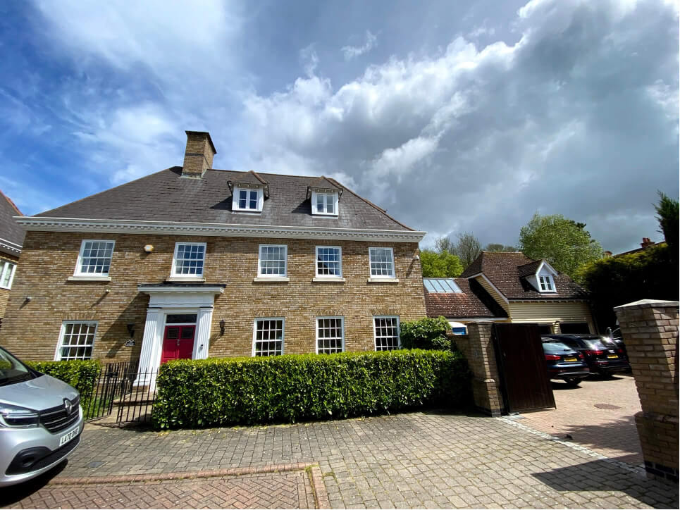
<path id="1" fill-rule="evenodd" d="M 390 349 L 425 316 L 418 232 L 330 178 L 168 168 L 26 216 L 0 342 L 23 359 Z M 132 341 L 130 341 L 132 340 Z"/>

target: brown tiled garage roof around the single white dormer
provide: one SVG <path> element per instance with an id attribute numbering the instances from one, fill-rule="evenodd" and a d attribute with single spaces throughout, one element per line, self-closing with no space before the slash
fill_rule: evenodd
<path id="1" fill-rule="evenodd" d="M 586 299 L 586 291 L 564 273 L 554 277 L 555 293 L 538 292 L 526 276 L 533 265 L 536 269 L 540 261 L 532 261 L 518 251 L 482 251 L 473 263 L 463 271 L 461 278 L 483 273 L 491 283 L 509 300 L 531 299 L 551 301 L 555 299 Z"/>

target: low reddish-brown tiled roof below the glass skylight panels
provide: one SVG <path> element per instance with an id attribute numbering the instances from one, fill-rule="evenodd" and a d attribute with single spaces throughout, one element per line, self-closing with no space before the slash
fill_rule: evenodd
<path id="1" fill-rule="evenodd" d="M 475 280 L 454 278 L 463 292 L 428 292 L 425 290 L 425 308 L 428 317 L 494 318 L 507 317 L 507 313 Z"/>

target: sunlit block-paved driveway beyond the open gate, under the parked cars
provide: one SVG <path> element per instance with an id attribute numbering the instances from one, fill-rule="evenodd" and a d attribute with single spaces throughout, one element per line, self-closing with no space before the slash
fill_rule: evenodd
<path id="1" fill-rule="evenodd" d="M 553 382 L 552 389 L 557 409 L 524 413 L 521 423 L 552 435 L 568 434 L 569 441 L 618 461 L 643 464 L 633 418 L 641 406 L 632 375 L 591 375 L 580 387 Z"/>

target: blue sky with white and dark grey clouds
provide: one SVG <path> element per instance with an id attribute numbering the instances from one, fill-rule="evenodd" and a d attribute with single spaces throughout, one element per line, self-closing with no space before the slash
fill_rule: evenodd
<path id="1" fill-rule="evenodd" d="M 0 4 L 0 189 L 26 214 L 182 164 L 330 175 L 430 235 L 535 211 L 614 252 L 678 196 L 678 11 L 649 1 Z"/>

